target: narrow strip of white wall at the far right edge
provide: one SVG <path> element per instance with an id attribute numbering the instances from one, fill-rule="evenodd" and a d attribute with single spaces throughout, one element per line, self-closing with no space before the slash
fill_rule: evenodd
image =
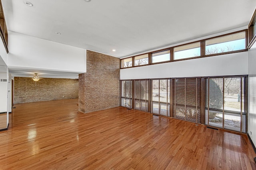
<path id="1" fill-rule="evenodd" d="M 256 146 L 256 43 L 248 51 L 248 105 L 248 134 Z"/>

